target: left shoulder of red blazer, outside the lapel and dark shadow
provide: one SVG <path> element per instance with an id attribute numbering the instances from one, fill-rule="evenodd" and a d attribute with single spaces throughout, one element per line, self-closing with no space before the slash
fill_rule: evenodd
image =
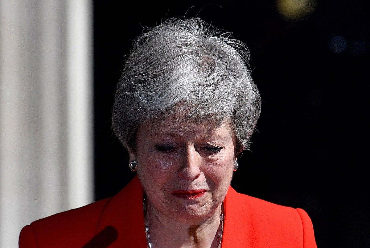
<path id="1" fill-rule="evenodd" d="M 19 247 L 70 247 L 71 244 L 82 247 L 95 234 L 100 215 L 109 201 L 110 198 L 106 198 L 24 226 Z"/>

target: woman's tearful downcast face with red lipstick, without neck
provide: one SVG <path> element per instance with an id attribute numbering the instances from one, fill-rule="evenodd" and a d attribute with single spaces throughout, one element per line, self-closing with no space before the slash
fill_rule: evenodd
<path id="1" fill-rule="evenodd" d="M 231 182 L 235 142 L 228 123 L 140 125 L 130 159 L 138 162 L 149 207 L 183 222 L 215 213 Z"/>

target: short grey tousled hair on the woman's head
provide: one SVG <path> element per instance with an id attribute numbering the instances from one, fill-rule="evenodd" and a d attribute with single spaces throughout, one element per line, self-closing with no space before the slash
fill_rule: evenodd
<path id="1" fill-rule="evenodd" d="M 248 149 L 261 108 L 248 65 L 247 47 L 231 33 L 199 18 L 166 20 L 135 40 L 117 85 L 113 131 L 136 151 L 140 124 L 228 120 L 239 154 Z"/>

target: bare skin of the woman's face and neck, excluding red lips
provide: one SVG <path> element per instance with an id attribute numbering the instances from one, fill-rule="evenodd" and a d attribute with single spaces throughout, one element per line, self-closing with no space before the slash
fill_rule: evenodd
<path id="1" fill-rule="evenodd" d="M 235 157 L 236 138 L 225 122 L 219 127 L 195 123 L 140 125 L 136 153 L 138 176 L 147 194 L 145 224 L 155 247 L 216 247 L 222 201 Z M 178 190 L 205 192 L 195 199 Z"/>

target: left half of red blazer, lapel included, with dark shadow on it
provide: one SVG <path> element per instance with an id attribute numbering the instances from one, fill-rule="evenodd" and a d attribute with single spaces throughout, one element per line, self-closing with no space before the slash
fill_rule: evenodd
<path id="1" fill-rule="evenodd" d="M 147 241 L 142 195 L 142 186 L 135 176 L 111 198 L 25 226 L 19 247 L 125 247 L 125 244 L 144 247 Z"/>

